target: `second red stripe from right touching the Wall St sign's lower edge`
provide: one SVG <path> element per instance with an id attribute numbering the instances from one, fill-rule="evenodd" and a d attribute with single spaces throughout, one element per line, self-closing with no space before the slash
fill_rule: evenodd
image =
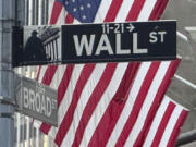
<path id="1" fill-rule="evenodd" d="M 157 73 L 157 70 L 159 69 L 159 65 L 160 65 L 160 62 L 152 62 L 151 63 L 148 72 L 145 76 L 145 79 L 143 82 L 143 85 L 139 89 L 139 93 L 138 93 L 136 101 L 133 106 L 132 112 L 128 117 L 128 120 L 126 121 L 126 123 L 123 127 L 123 131 L 121 132 L 121 135 L 120 135 L 120 137 L 115 144 L 115 147 L 124 146 L 125 140 L 127 139 L 127 136 L 128 136 L 130 132 L 132 131 L 132 128 L 133 128 L 133 126 L 137 120 L 139 110 L 144 103 L 146 95 L 148 94 L 147 91 L 151 85 L 151 82 L 152 82 L 156 73 Z"/>

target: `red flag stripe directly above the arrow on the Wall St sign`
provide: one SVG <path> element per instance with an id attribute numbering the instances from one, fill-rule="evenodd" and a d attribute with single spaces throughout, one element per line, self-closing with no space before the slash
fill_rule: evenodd
<path id="1" fill-rule="evenodd" d="M 126 21 L 137 20 L 144 3 L 145 3 L 145 0 L 135 0 L 132 5 L 132 9 L 126 17 Z"/>

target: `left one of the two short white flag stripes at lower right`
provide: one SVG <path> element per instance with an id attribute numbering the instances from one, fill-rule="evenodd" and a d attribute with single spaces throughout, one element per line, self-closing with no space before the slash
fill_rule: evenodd
<path id="1" fill-rule="evenodd" d="M 162 102 L 161 102 L 161 105 L 160 105 L 160 107 L 159 107 L 159 109 L 158 109 L 158 111 L 156 113 L 156 117 L 154 119 L 154 122 L 151 124 L 151 127 L 150 127 L 150 130 L 148 132 L 148 135 L 147 135 L 147 137 L 145 139 L 145 143 L 144 143 L 145 147 L 150 147 L 151 146 L 151 144 L 154 142 L 154 138 L 156 136 L 157 130 L 158 130 L 159 124 L 160 124 L 160 122 L 162 120 L 162 117 L 164 115 L 164 112 L 166 112 L 166 110 L 168 108 L 169 102 L 170 102 L 169 99 L 163 99 L 162 100 Z"/>

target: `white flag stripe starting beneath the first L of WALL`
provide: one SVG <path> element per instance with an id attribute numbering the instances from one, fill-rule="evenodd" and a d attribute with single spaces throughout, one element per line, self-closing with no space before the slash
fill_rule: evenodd
<path id="1" fill-rule="evenodd" d="M 123 78 L 123 75 L 125 73 L 125 70 L 127 68 L 127 63 L 119 63 L 114 74 L 107 87 L 107 89 L 105 90 L 105 94 L 102 95 L 102 97 L 99 100 L 99 103 L 97 105 L 89 122 L 88 125 L 85 128 L 84 132 L 84 136 L 82 142 L 81 142 L 81 147 L 85 147 L 88 145 L 97 125 L 100 122 L 100 119 L 102 118 L 108 105 L 110 103 L 110 100 L 113 98 L 113 96 L 115 95 L 120 83 Z"/>

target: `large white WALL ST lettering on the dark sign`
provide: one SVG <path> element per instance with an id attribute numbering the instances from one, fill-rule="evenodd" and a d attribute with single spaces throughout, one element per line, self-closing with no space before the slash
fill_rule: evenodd
<path id="1" fill-rule="evenodd" d="M 150 42 L 156 42 L 158 40 L 157 38 L 157 34 L 160 35 L 160 41 L 163 42 L 164 41 L 164 34 L 166 32 L 151 32 L 149 34 L 149 41 Z M 74 40 L 74 45 L 75 45 L 75 51 L 76 51 L 76 56 L 82 56 L 83 51 L 86 52 L 86 56 L 93 56 L 93 49 L 96 48 L 95 51 L 95 56 L 100 56 L 102 51 L 107 51 L 108 54 L 142 54 L 142 53 L 148 53 L 148 49 L 147 48 L 138 48 L 138 34 L 137 33 L 133 33 L 133 40 L 131 40 L 133 42 L 133 46 L 131 47 L 133 49 L 133 52 L 131 52 L 131 48 L 126 48 L 124 49 L 121 45 L 121 34 L 115 34 L 115 50 L 113 52 L 112 50 L 112 46 L 110 42 L 110 39 L 108 37 L 107 34 L 102 34 L 99 38 L 98 45 L 97 47 L 95 46 L 95 39 L 96 39 L 96 35 L 93 34 L 89 37 L 89 40 L 87 39 L 87 35 L 82 35 L 81 40 L 78 35 L 73 35 L 73 40 Z"/>

